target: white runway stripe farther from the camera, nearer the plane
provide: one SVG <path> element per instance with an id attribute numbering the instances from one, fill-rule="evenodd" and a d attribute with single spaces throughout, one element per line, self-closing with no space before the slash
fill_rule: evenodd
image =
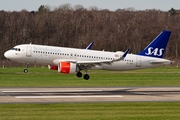
<path id="1" fill-rule="evenodd" d="M 49 91 L 2 91 L 3 93 L 46 93 L 46 92 L 102 92 L 103 90 L 49 90 Z"/>

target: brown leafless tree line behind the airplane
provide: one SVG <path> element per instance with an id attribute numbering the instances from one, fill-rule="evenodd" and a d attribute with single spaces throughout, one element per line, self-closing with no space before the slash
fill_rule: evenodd
<path id="1" fill-rule="evenodd" d="M 171 30 L 165 57 L 180 57 L 180 15 L 169 11 L 117 9 L 87 10 L 69 4 L 51 10 L 40 6 L 37 11 L 0 11 L 0 57 L 18 44 L 42 44 L 62 47 L 125 51 L 143 50 L 162 30 Z"/>

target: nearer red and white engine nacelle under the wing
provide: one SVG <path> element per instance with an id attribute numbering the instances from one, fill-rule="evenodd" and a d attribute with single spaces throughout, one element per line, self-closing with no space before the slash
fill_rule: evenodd
<path id="1" fill-rule="evenodd" d="M 76 64 L 70 63 L 70 62 L 60 62 L 58 64 L 58 72 L 64 73 L 64 74 L 72 74 L 77 72 L 77 66 Z"/>

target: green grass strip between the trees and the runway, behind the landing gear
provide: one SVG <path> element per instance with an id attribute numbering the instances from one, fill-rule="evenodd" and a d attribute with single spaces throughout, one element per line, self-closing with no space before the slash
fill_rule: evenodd
<path id="1" fill-rule="evenodd" d="M 75 74 L 59 74 L 41 67 L 0 68 L 0 87 L 61 87 L 61 86 L 180 86 L 180 68 L 158 67 L 136 71 L 89 71 L 90 80 Z"/>

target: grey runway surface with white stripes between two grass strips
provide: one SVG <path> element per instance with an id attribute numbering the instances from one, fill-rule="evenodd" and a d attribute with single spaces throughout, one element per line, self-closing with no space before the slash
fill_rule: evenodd
<path id="1" fill-rule="evenodd" d="M 180 101 L 180 87 L 0 88 L 0 103 Z"/>

